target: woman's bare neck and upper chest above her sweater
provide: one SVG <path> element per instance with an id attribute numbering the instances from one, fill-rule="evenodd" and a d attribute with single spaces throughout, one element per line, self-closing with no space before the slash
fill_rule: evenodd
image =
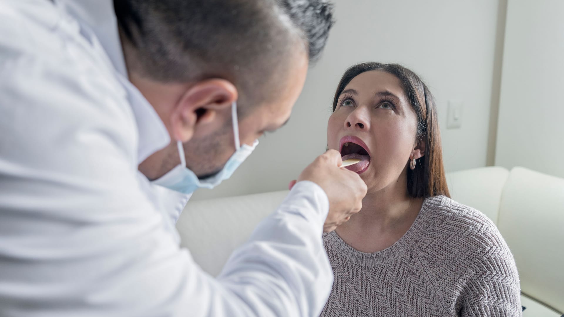
<path id="1" fill-rule="evenodd" d="M 406 234 L 424 199 L 410 197 L 406 182 L 395 182 L 362 201 L 362 210 L 336 232 L 353 248 L 373 253 L 384 250 Z"/>

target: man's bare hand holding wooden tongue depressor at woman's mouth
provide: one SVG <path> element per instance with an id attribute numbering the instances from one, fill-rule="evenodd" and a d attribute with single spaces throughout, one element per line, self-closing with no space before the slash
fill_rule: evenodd
<path id="1" fill-rule="evenodd" d="M 318 156 L 299 175 L 297 181 L 310 180 L 323 188 L 329 198 L 329 214 L 323 225 L 323 231 L 335 230 L 337 226 L 349 220 L 351 215 L 362 208 L 362 199 L 367 187 L 364 180 L 354 171 L 341 168 L 341 153 L 334 149 Z M 290 182 L 290 189 L 296 181 Z"/>

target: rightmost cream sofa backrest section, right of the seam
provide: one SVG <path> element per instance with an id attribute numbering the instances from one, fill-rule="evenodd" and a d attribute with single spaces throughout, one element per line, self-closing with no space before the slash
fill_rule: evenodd
<path id="1" fill-rule="evenodd" d="M 564 311 L 564 179 L 514 168 L 497 227 L 517 263 L 522 292 Z"/>

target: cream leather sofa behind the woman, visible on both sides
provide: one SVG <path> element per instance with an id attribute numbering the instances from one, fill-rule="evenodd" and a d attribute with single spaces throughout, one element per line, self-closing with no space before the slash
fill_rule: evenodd
<path id="1" fill-rule="evenodd" d="M 454 200 L 481 210 L 507 241 L 521 279 L 523 316 L 561 316 L 564 179 L 494 166 L 448 173 L 447 182 Z M 177 222 L 182 245 L 205 271 L 217 275 L 232 250 L 287 193 L 189 202 Z"/>

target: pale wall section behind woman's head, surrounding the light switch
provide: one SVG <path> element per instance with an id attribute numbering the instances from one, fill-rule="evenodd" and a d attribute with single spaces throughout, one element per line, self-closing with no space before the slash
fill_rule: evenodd
<path id="1" fill-rule="evenodd" d="M 492 78 L 501 54 L 496 41 L 503 40 L 497 30 L 504 0 L 334 2 L 337 24 L 288 125 L 261 139 L 230 180 L 196 192 L 194 200 L 287 188 L 325 151 L 334 89 L 343 71 L 360 61 L 402 63 L 428 83 L 438 102 L 447 171 L 486 165 L 492 100 L 497 107 Z M 445 129 L 449 99 L 464 100 L 459 130 Z"/>

